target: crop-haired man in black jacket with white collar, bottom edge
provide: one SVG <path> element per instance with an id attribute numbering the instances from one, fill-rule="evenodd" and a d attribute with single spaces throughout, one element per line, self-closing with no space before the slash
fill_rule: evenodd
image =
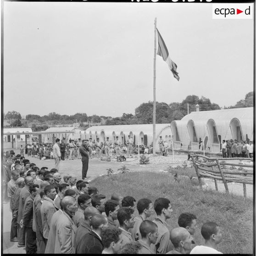
<path id="1" fill-rule="evenodd" d="M 76 245 L 75 253 L 79 254 L 101 254 L 103 244 L 101 241 L 101 232 L 108 225 L 107 218 L 101 214 L 96 214 L 91 219 L 92 230 L 84 234 L 80 243 Z"/>

